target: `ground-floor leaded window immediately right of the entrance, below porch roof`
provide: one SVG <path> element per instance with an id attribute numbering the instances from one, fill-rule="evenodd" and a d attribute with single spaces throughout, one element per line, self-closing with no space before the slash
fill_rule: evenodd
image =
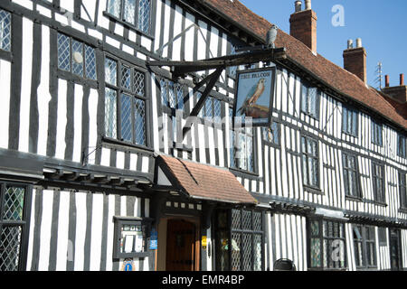
<path id="1" fill-rule="evenodd" d="M 263 269 L 263 214 L 255 210 L 217 210 L 215 260 L 217 271 Z"/>

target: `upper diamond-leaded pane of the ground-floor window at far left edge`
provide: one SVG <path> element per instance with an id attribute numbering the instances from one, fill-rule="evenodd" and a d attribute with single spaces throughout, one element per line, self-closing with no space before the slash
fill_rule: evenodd
<path id="1" fill-rule="evenodd" d="M 4 196 L 3 219 L 23 220 L 24 188 L 7 187 Z"/>

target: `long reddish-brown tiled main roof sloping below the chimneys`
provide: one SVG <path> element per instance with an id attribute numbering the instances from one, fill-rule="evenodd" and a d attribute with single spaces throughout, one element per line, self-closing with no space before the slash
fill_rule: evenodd
<path id="1" fill-rule="evenodd" d="M 212 7 L 222 16 L 237 23 L 246 32 L 255 34 L 265 42 L 271 23 L 251 12 L 238 0 L 201 0 L 204 5 Z M 289 17 L 289 15 L 288 15 Z M 285 47 L 289 58 L 301 67 L 311 71 L 328 86 L 338 90 L 345 97 L 351 98 L 382 115 L 391 122 L 407 129 L 407 120 L 402 111 L 393 107 L 388 98 L 384 98 L 377 90 L 366 86 L 364 81 L 354 74 L 328 61 L 321 55 L 315 55 L 304 43 L 279 30 L 276 47 Z"/>

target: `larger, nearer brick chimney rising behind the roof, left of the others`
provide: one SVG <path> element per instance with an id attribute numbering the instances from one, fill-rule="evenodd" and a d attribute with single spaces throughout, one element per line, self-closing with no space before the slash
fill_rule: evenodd
<path id="1" fill-rule="evenodd" d="M 311 0 L 306 0 L 306 9 L 301 10 L 301 1 L 295 2 L 295 13 L 289 18 L 289 34 L 317 53 L 317 14 L 311 9 Z"/>

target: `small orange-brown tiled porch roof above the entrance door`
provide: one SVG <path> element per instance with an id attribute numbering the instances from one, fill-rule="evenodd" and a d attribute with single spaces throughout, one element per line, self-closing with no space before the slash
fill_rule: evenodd
<path id="1" fill-rule="evenodd" d="M 161 162 L 163 161 L 163 162 Z M 249 191 L 226 169 L 159 155 L 158 163 L 174 177 L 178 189 L 193 198 L 256 204 Z"/>

